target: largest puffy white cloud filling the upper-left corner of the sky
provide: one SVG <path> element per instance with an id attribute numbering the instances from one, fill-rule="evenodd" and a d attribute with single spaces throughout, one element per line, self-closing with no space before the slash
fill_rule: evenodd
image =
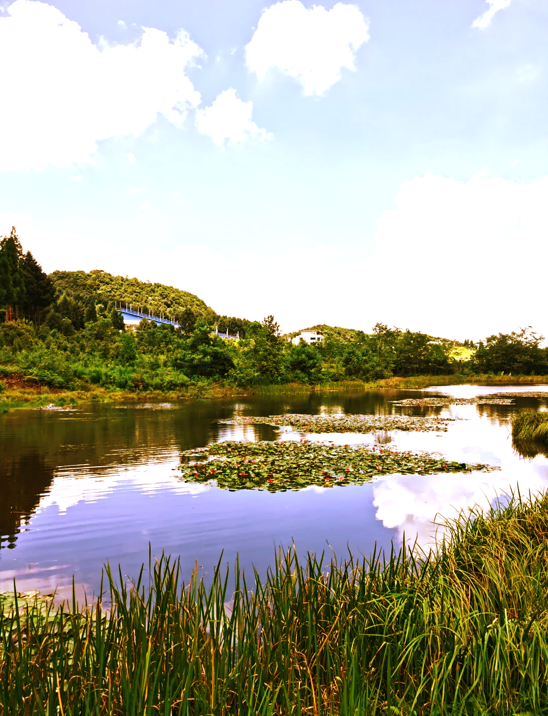
<path id="1" fill-rule="evenodd" d="M 185 69 L 202 51 L 145 28 L 99 48 L 51 5 L 16 0 L 0 17 L 0 170 L 89 161 L 97 142 L 137 136 L 164 115 L 177 127 L 200 102 Z"/>

